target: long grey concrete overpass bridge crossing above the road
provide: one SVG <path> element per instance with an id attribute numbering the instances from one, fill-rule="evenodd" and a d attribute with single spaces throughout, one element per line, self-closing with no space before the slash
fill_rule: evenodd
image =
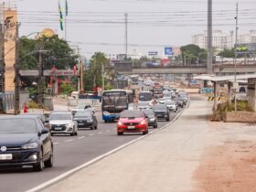
<path id="1" fill-rule="evenodd" d="M 168 66 L 168 67 L 133 67 L 132 64 L 125 63 L 125 66 L 115 66 L 115 71 L 123 74 L 206 74 L 207 66 Z M 234 73 L 234 65 L 213 65 L 213 73 Z M 237 65 L 238 73 L 256 72 L 256 64 Z"/>

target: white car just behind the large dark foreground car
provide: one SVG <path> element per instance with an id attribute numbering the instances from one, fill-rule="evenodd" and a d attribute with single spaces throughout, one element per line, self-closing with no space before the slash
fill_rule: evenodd
<path id="1" fill-rule="evenodd" d="M 71 112 L 51 112 L 48 117 L 48 127 L 51 135 L 55 133 L 78 135 L 78 123 L 74 121 Z"/>

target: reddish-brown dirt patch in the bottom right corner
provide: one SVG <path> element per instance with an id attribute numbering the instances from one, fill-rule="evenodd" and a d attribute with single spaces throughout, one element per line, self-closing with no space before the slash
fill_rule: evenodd
<path id="1" fill-rule="evenodd" d="M 193 192 L 256 192 L 256 141 L 234 138 L 205 150 Z"/>

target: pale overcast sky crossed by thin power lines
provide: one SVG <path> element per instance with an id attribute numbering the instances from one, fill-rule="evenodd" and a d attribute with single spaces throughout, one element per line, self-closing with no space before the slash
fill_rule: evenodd
<path id="1" fill-rule="evenodd" d="M 212 0 L 213 29 L 235 30 L 239 3 L 239 33 L 256 30 L 255 0 Z M 3 1 L 2 1 L 3 2 Z M 21 22 L 20 36 L 59 27 L 58 2 L 65 15 L 65 0 L 13 0 Z M 96 51 L 107 55 L 125 52 L 124 14 L 128 14 L 128 53 L 164 51 L 191 43 L 191 36 L 207 30 L 207 0 L 68 0 L 67 40 L 90 58 Z"/>

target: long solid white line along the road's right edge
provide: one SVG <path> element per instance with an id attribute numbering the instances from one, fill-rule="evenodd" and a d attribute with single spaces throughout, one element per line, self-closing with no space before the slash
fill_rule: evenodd
<path id="1" fill-rule="evenodd" d="M 55 178 L 53 178 L 51 180 L 48 180 L 47 182 L 45 182 L 45 183 L 43 183 L 43 184 L 41 184 L 41 185 L 39 185 L 37 187 L 34 187 L 34 188 L 31 188 L 31 189 L 27 190 L 26 192 L 37 192 L 38 190 L 41 190 L 42 188 L 48 187 L 50 185 L 53 185 L 53 184 L 59 182 L 59 180 L 64 179 L 65 177 L 70 176 L 70 175 L 80 171 L 83 168 L 85 168 L 85 167 L 87 167 L 89 165 L 95 164 L 96 162 L 100 161 L 101 159 L 103 159 L 103 158 L 105 158 L 105 157 L 107 157 L 109 155 L 112 155 L 112 154 L 122 150 L 123 148 L 125 148 L 125 147 L 127 147 L 127 146 L 129 146 L 131 144 L 134 144 L 134 143 L 136 143 L 136 142 L 138 142 L 138 141 L 140 141 L 142 139 L 144 139 L 145 137 L 147 137 L 147 136 L 149 136 L 149 135 L 151 135 L 151 134 L 153 134 L 155 132 L 158 132 L 158 131 L 160 131 L 162 129 L 165 129 L 166 127 L 168 127 L 168 125 L 170 125 L 171 123 L 174 123 L 176 121 L 176 119 L 181 115 L 181 113 L 182 112 L 177 113 L 177 115 L 174 118 L 174 120 L 172 122 L 170 122 L 170 123 L 165 124 L 165 126 L 159 128 L 159 129 L 157 129 L 157 130 L 155 130 L 155 131 L 153 131 L 151 133 L 148 133 L 148 134 L 146 134 L 144 136 L 141 136 L 141 137 L 139 137 L 137 139 L 134 139 L 133 141 L 131 141 L 131 142 L 127 143 L 127 144 L 123 144 L 123 145 L 113 149 L 112 151 L 107 152 L 106 154 L 100 155 L 100 156 L 92 159 L 91 161 L 89 161 L 89 162 L 87 162 L 87 163 L 85 163 L 83 165 L 77 166 L 77 167 L 75 167 L 75 168 L 65 172 L 64 174 L 61 174 L 60 176 L 56 176 Z"/>

